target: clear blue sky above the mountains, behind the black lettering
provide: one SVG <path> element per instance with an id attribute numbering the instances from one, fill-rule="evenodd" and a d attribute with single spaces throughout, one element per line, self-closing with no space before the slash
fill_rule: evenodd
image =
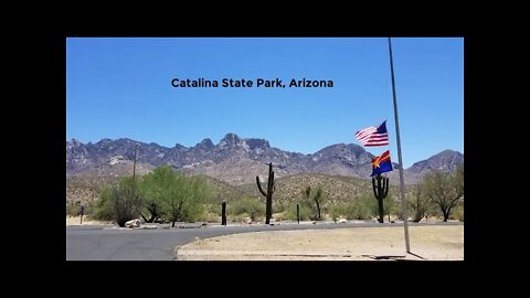
<path id="1" fill-rule="evenodd" d="M 464 152 L 464 39 L 392 39 L 403 163 Z M 171 79 L 275 79 L 286 88 L 174 88 Z M 295 79 L 332 88 L 289 88 Z M 254 83 L 255 84 L 255 83 Z M 388 39 L 67 39 L 66 140 L 190 147 L 227 132 L 312 153 L 386 119 L 398 162 Z"/>

